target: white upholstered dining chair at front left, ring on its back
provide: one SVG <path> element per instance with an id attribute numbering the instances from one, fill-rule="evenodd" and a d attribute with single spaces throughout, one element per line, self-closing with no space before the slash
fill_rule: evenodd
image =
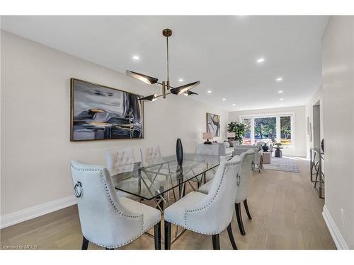
<path id="1" fill-rule="evenodd" d="M 150 206 L 115 193 L 107 168 L 72 161 L 72 180 L 77 197 L 83 242 L 115 249 L 132 242 L 154 227 L 155 249 L 161 249 L 161 213 Z"/>

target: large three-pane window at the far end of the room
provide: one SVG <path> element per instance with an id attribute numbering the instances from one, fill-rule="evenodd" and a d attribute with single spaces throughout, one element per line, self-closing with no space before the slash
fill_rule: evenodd
<path id="1" fill-rule="evenodd" d="M 241 116 L 240 121 L 246 125 L 244 144 L 263 140 L 280 142 L 282 146 L 294 144 L 294 114 Z"/>

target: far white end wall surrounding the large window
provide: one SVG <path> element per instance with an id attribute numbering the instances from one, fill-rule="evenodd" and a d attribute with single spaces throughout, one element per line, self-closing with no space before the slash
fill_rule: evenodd
<path id="1" fill-rule="evenodd" d="M 295 113 L 295 148 L 284 148 L 283 155 L 306 156 L 306 139 L 305 139 L 305 107 L 276 107 L 273 109 L 263 110 L 242 110 L 239 112 L 229 112 L 229 122 L 239 121 L 239 117 L 243 115 L 257 114 L 275 114 L 282 112 Z"/>

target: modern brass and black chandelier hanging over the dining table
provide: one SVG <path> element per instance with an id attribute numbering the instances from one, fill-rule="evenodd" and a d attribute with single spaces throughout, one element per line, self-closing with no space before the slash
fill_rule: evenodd
<path id="1" fill-rule="evenodd" d="M 154 83 L 157 83 L 162 86 L 162 94 L 161 95 L 148 95 L 144 98 L 139 98 L 139 100 L 149 100 L 149 101 L 155 101 L 157 98 L 166 98 L 166 95 L 169 94 L 174 94 L 174 95 L 198 95 L 198 93 L 195 93 L 191 91 L 191 88 L 194 88 L 195 86 L 198 86 L 200 84 L 200 81 L 196 81 L 193 83 L 188 83 L 183 86 L 178 86 L 176 88 L 173 88 L 170 86 L 170 81 L 169 81 L 169 37 L 172 35 L 172 30 L 169 28 L 165 28 L 162 30 L 162 35 L 166 37 L 166 47 L 167 47 L 167 81 L 162 81 L 162 83 L 159 83 L 159 79 L 154 78 L 152 76 L 147 76 L 142 73 L 137 73 L 133 71 L 127 70 L 126 73 L 128 76 L 132 76 L 134 78 L 139 79 L 140 81 L 143 81 L 144 83 L 147 83 L 148 85 L 153 85 Z"/>

